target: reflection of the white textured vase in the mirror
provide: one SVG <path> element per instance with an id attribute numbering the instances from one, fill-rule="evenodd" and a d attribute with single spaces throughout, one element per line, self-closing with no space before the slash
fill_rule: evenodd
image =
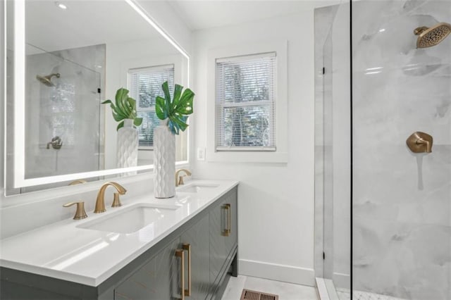
<path id="1" fill-rule="evenodd" d="M 118 130 L 117 138 L 118 168 L 136 167 L 138 164 L 138 131 L 132 119 L 125 119 L 124 126 Z"/>

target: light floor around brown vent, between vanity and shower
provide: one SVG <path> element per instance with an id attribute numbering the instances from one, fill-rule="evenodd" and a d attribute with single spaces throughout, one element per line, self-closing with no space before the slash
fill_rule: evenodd
<path id="1" fill-rule="evenodd" d="M 239 300 L 242 289 L 276 294 L 279 300 L 319 300 L 314 287 L 243 275 L 230 278 L 222 300 Z"/>

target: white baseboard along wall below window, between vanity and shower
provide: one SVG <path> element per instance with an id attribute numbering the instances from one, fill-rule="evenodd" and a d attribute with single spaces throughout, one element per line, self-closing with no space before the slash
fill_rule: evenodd
<path id="1" fill-rule="evenodd" d="M 238 273 L 252 277 L 266 278 L 297 285 L 315 287 L 315 272 L 313 269 L 293 267 L 291 265 L 278 265 L 262 261 L 238 260 Z"/>

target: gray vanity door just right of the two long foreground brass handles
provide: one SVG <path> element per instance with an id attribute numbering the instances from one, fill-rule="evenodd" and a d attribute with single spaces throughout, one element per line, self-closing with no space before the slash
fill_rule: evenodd
<path id="1" fill-rule="evenodd" d="M 188 280 L 191 283 L 191 290 L 190 296 L 186 299 L 204 300 L 210 289 L 209 215 L 204 215 L 199 222 L 183 232 L 180 242 L 190 245 L 191 272 L 187 273 L 187 265 L 185 265 L 185 278 L 190 278 Z M 185 282 L 185 285 L 187 284 L 188 282 Z"/>

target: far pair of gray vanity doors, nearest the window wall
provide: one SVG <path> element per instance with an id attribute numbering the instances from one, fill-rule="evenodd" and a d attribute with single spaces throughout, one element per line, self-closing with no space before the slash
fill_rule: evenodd
<path id="1" fill-rule="evenodd" d="M 209 213 L 210 281 L 213 289 L 221 285 L 228 261 L 237 245 L 237 189 L 221 198 Z"/>

